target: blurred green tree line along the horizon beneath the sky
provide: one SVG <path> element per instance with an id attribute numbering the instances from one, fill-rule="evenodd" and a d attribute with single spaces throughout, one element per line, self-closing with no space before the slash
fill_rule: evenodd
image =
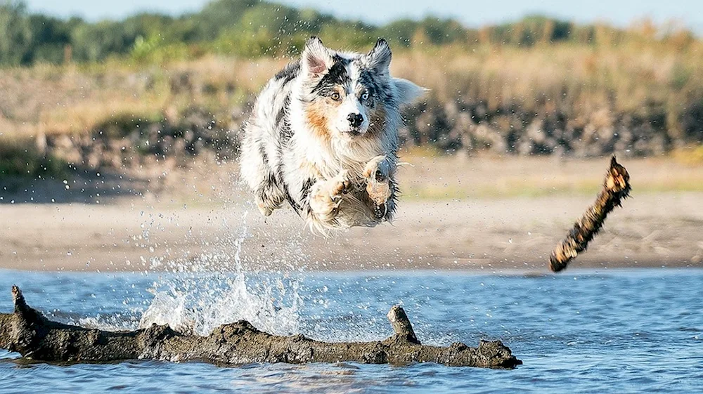
<path id="1" fill-rule="evenodd" d="M 269 1 L 215 0 L 198 12 L 179 16 L 138 13 L 122 20 L 89 22 L 30 13 L 21 0 L 0 1 L 0 65 L 4 66 L 101 62 L 110 57 L 159 63 L 208 53 L 290 56 L 299 53 L 311 35 L 343 48 L 368 46 L 378 37 L 389 39 L 394 48 L 531 47 L 569 41 L 618 45 L 633 39 L 671 41 L 685 48 L 696 40 L 685 29 L 667 29 L 662 34 L 646 21 L 633 32 L 539 15 L 479 29 L 451 18 L 432 17 L 375 26 Z"/>

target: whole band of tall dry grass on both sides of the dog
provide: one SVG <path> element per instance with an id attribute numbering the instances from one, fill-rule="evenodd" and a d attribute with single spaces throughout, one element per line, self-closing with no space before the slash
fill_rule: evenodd
<path id="1" fill-rule="evenodd" d="M 0 133 L 18 138 L 86 133 L 115 117 L 172 117 L 193 105 L 227 117 L 233 107 L 252 100 L 285 63 L 210 56 L 163 65 L 110 60 L 0 70 Z M 621 46 L 398 51 L 392 71 L 430 88 L 438 103 L 460 100 L 483 102 L 489 111 L 559 112 L 574 124 L 605 129 L 622 114 L 662 118 L 666 125 L 659 126 L 678 138 L 687 131 L 687 108 L 703 105 L 700 64 L 698 41 L 683 47 L 633 41 Z M 698 121 L 693 117 L 692 122 Z"/>

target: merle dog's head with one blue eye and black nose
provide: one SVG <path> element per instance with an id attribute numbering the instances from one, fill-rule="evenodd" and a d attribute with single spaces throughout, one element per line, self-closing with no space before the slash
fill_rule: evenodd
<path id="1" fill-rule="evenodd" d="M 320 39 L 307 41 L 301 58 L 305 116 L 316 133 L 359 138 L 382 131 L 389 112 L 398 112 L 424 89 L 392 78 L 391 50 L 379 39 L 366 54 L 326 48 Z"/>

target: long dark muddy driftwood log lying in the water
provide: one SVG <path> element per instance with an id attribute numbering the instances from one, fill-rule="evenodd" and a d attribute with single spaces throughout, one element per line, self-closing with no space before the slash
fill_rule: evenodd
<path id="1" fill-rule="evenodd" d="M 437 362 L 448 366 L 514 368 L 522 364 L 501 341 L 478 348 L 452 343 L 442 348 L 420 344 L 403 308 L 389 312 L 395 334 L 384 341 L 329 343 L 303 335 L 276 336 L 245 320 L 224 324 L 209 336 L 183 334 L 154 324 L 135 331 L 103 331 L 53 322 L 27 306 L 12 288 L 14 313 L 0 313 L 0 348 L 49 362 L 110 362 L 153 359 L 198 360 L 219 365 L 251 362 L 363 362 L 404 365 Z"/>

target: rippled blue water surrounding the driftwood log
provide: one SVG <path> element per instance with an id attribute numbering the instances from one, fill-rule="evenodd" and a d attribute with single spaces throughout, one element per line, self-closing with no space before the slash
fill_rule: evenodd
<path id="1" fill-rule="evenodd" d="M 198 305 L 233 282 L 221 274 L 0 271 L 0 310 L 10 310 L 14 283 L 53 319 L 137 327 L 153 293 L 169 287 L 162 283 L 177 284 L 171 286 L 176 292 L 207 289 L 183 299 L 190 317 L 197 317 Z M 0 350 L 0 392 L 703 393 L 703 270 L 570 270 L 546 276 L 363 272 L 249 275 L 245 282 L 247 294 L 265 295 L 252 299 L 275 307 L 261 320 L 273 331 L 293 327 L 333 341 L 382 339 L 391 334 L 385 313 L 402 303 L 421 341 L 475 346 L 482 338 L 501 339 L 524 365 L 515 370 L 354 363 L 50 365 Z M 269 292 L 262 284 L 270 284 Z M 244 294 L 223 291 L 233 298 Z M 157 312 L 165 318 L 183 313 L 167 307 Z M 217 320 L 216 311 L 208 313 L 209 321 Z M 291 321 L 282 322 L 286 319 Z"/>

